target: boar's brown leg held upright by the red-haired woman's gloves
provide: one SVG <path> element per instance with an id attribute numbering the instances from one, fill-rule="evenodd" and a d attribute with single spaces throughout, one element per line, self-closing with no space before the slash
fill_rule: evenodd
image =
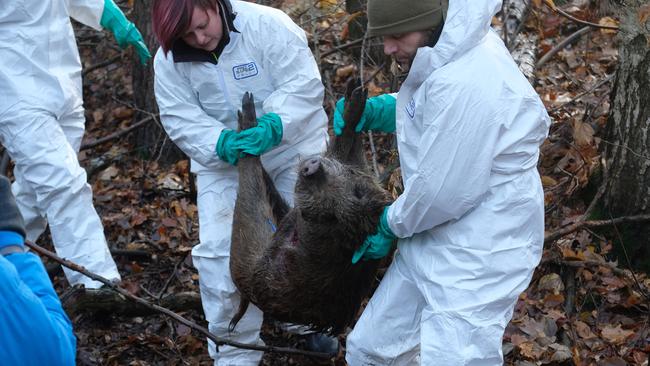
<path id="1" fill-rule="evenodd" d="M 239 112 L 239 128 L 245 130 L 255 127 L 255 104 L 253 96 L 246 93 Z M 234 329 L 237 321 L 246 312 L 251 299 L 252 279 L 266 247 L 271 243 L 277 226 L 271 204 L 271 192 L 267 177 L 258 156 L 241 156 L 237 163 L 239 185 L 233 213 L 232 237 L 230 244 L 230 274 L 241 295 L 238 313 L 231 321 Z M 277 194 L 277 192 L 276 192 Z"/>

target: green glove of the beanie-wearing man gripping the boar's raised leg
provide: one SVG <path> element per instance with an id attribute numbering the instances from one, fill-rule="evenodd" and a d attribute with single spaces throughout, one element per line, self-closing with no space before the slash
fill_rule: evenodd
<path id="1" fill-rule="evenodd" d="M 363 115 L 354 129 L 356 132 L 361 131 L 380 131 L 395 132 L 395 105 L 397 99 L 390 94 L 382 94 L 366 100 L 366 107 Z M 334 133 L 340 135 L 343 133 L 345 121 L 343 120 L 343 108 L 345 98 L 336 102 L 334 109 Z"/>

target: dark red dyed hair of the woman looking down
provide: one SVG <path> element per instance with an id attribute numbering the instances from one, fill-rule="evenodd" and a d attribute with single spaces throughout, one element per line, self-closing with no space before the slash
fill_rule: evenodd
<path id="1" fill-rule="evenodd" d="M 153 32 L 165 55 L 192 24 L 195 6 L 213 9 L 217 0 L 154 0 L 151 8 Z"/>

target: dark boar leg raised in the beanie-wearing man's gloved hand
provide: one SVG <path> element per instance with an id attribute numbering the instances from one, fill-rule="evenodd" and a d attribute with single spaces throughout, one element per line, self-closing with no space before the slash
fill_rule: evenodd
<path id="1" fill-rule="evenodd" d="M 343 109 L 343 120 L 345 127 L 340 136 L 335 136 L 330 144 L 328 155 L 333 156 L 344 164 L 365 167 L 366 158 L 361 142 L 361 135 L 355 132 L 366 105 L 368 90 L 359 86 L 358 79 L 354 78 L 348 82 L 345 91 L 345 107 Z"/>

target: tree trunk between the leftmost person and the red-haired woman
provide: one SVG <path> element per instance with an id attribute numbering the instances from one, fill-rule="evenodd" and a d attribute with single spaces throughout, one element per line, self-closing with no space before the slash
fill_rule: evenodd
<path id="1" fill-rule="evenodd" d="M 151 4 L 152 0 L 138 0 L 133 5 L 133 22 L 142 33 L 149 52 L 154 56 L 158 49 L 153 30 L 151 27 Z M 137 59 L 137 56 L 134 55 Z M 158 114 L 158 105 L 153 93 L 153 58 L 142 66 L 138 61 L 133 63 L 133 98 L 136 105 L 134 122 L 148 117 L 150 114 Z M 163 164 L 172 164 L 182 159 L 184 154 L 169 140 L 167 134 L 159 123 L 152 121 L 147 126 L 138 129 L 134 134 L 133 143 L 139 148 L 140 153 L 148 158 L 157 160 Z"/>

